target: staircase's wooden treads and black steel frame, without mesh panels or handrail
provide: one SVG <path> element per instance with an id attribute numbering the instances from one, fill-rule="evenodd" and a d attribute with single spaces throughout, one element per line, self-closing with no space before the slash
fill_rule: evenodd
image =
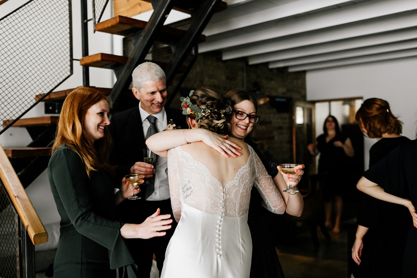
<path id="1" fill-rule="evenodd" d="M 89 67 L 108 68 L 114 71 L 117 81 L 113 88 L 96 88 L 109 96 L 113 103 L 113 111 L 126 109 L 126 104 L 132 103 L 133 95 L 128 90 L 131 84 L 131 74 L 139 64 L 144 61 L 152 61 L 161 66 L 166 73 L 167 86 L 173 85 L 167 104 L 171 103 L 181 84 L 191 70 L 198 55 L 198 43 L 205 41 L 201 33 L 206 27 L 211 16 L 226 8 L 226 3 L 221 0 L 152 0 L 154 12 L 148 22 L 116 16 L 102 22 L 95 23 L 97 32 L 122 35 L 131 40 L 131 51 L 128 56 L 117 56 L 107 53 L 88 55 L 88 36 L 86 23 L 91 19 L 86 18 L 87 0 L 82 0 L 81 16 L 84 22 L 82 26 L 83 54 L 80 65 L 83 66 L 83 86 L 89 86 Z M 70 2 L 69 2 L 70 4 Z M 107 3 L 106 3 L 107 4 Z M 94 5 L 95 7 L 95 5 Z M 104 10 L 105 6 L 101 6 Z M 187 20 L 186 30 L 163 25 L 172 9 L 189 13 L 191 20 Z M 102 14 L 96 10 L 95 17 Z M 94 19 L 96 20 L 96 18 Z M 99 19 L 98 19 L 99 20 Z M 152 60 L 155 49 L 169 48 L 169 57 L 163 61 Z M 71 60 L 72 53 L 70 53 Z M 151 58 L 151 59 L 149 59 Z M 72 74 L 72 69 L 71 69 Z M 175 78 L 175 82 L 174 82 Z M 81 85 L 81 84 L 80 84 Z M 56 85 L 58 86 L 58 84 Z M 55 86 L 55 88 L 56 88 Z M 53 90 L 53 89 L 52 89 Z M 51 90 L 51 91 L 52 91 Z M 48 113 L 59 114 L 65 96 L 72 91 L 69 88 L 63 91 L 48 92 L 35 96 L 35 104 L 38 101 L 45 102 L 45 110 Z M 34 104 L 34 105 L 35 105 Z M 34 106 L 33 105 L 33 106 Z M 5 148 L 6 153 L 18 173 L 19 179 L 26 188 L 38 175 L 46 169 L 49 161 L 48 148 L 53 144 L 58 116 L 47 116 L 31 119 L 19 119 L 28 110 L 15 119 L 3 119 L 3 132 L 10 126 L 26 128 L 33 142 L 25 147 Z"/>

